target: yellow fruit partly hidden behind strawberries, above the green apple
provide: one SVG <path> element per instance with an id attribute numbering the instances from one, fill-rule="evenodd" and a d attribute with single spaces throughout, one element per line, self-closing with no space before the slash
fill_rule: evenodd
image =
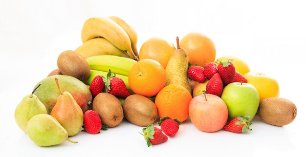
<path id="1" fill-rule="evenodd" d="M 237 57 L 223 56 L 223 57 L 220 57 L 218 60 L 229 60 L 229 59 L 233 59 L 232 63 L 234 64 L 236 71 L 238 71 L 241 75 L 244 75 L 250 72 L 250 68 L 247 65 L 247 63 Z"/>

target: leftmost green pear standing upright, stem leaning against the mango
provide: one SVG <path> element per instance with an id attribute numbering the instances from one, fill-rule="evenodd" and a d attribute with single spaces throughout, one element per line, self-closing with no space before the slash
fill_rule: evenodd
<path id="1" fill-rule="evenodd" d="M 44 104 L 33 94 L 40 85 L 31 94 L 26 95 L 15 109 L 16 123 L 24 132 L 30 118 L 38 114 L 47 114 Z"/>

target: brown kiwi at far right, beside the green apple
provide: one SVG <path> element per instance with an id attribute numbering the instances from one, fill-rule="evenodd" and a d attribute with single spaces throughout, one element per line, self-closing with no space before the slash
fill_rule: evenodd
<path id="1" fill-rule="evenodd" d="M 284 126 L 295 119 L 297 108 L 293 102 L 285 98 L 265 98 L 260 101 L 257 112 L 262 121 Z"/>

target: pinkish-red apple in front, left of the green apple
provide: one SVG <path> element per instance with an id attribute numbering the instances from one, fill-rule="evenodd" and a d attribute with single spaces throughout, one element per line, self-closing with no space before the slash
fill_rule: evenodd
<path id="1" fill-rule="evenodd" d="M 198 130 L 216 132 L 227 122 L 227 106 L 218 96 L 201 94 L 190 101 L 189 117 Z"/>

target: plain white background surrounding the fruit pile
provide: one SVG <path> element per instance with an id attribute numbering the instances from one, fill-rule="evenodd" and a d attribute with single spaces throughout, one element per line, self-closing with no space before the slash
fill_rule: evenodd
<path id="1" fill-rule="evenodd" d="M 305 6 L 303 0 L 0 0 L 0 156 L 303 156 Z M 256 117 L 246 134 L 200 132 L 188 119 L 175 137 L 151 148 L 138 134 L 142 127 L 123 121 L 98 135 L 70 137 L 78 144 L 35 145 L 17 126 L 15 107 L 57 68 L 61 52 L 82 44 L 83 23 L 96 16 L 130 23 L 138 50 L 151 37 L 175 43 L 176 36 L 189 32 L 205 34 L 214 41 L 217 58 L 234 55 L 251 71 L 276 78 L 280 97 L 298 108 L 296 119 L 276 127 Z"/>

